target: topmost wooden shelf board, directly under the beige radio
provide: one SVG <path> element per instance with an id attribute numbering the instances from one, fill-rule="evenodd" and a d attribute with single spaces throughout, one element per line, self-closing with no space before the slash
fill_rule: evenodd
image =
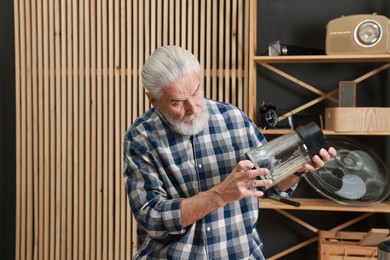
<path id="1" fill-rule="evenodd" d="M 390 62 L 390 54 L 254 56 L 255 63 L 355 63 Z"/>

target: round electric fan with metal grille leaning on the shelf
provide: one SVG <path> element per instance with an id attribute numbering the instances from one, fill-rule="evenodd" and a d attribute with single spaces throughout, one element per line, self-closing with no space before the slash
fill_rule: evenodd
<path id="1" fill-rule="evenodd" d="M 347 139 L 328 140 L 337 150 L 324 167 L 305 180 L 324 197 L 344 205 L 368 206 L 390 194 L 390 173 L 368 147 Z"/>

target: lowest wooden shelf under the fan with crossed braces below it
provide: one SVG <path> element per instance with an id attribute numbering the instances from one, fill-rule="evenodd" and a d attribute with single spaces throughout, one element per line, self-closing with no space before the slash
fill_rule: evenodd
<path id="1" fill-rule="evenodd" d="M 309 198 L 292 198 L 292 200 L 300 202 L 299 207 L 288 205 L 282 202 L 278 202 L 272 199 L 261 199 L 260 201 L 260 210 L 271 209 L 279 212 L 280 214 L 286 216 L 292 221 L 304 226 L 305 228 L 318 233 L 319 229 L 310 225 L 309 223 L 299 219 L 296 216 L 291 215 L 287 210 L 313 210 L 313 211 L 339 211 L 339 212 L 361 212 L 362 214 L 358 217 L 350 219 L 329 231 L 338 231 L 343 228 L 346 228 L 356 222 L 359 222 L 365 218 L 368 218 L 376 213 L 390 213 L 390 201 L 384 201 L 378 204 L 374 204 L 368 207 L 359 207 L 359 206 L 348 206 L 341 205 L 339 203 L 333 202 L 328 199 L 309 199 Z M 270 258 L 268 260 L 279 259 L 280 257 L 287 255 L 291 252 L 294 252 L 302 247 L 305 247 L 311 243 L 314 243 L 318 240 L 318 235 L 313 238 L 310 238 L 304 242 L 301 242 L 295 246 L 292 246 Z"/>

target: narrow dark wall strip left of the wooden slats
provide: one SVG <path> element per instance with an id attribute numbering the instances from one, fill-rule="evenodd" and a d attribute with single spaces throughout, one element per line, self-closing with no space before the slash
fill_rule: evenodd
<path id="1" fill-rule="evenodd" d="M 0 1 L 0 259 L 15 259 L 15 56 L 13 1 Z"/>

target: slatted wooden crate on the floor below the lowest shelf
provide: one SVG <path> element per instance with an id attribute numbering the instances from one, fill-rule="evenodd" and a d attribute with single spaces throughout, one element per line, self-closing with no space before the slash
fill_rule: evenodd
<path id="1" fill-rule="evenodd" d="M 374 260 L 376 246 L 359 246 L 365 232 L 320 231 L 318 259 L 320 260 Z"/>

